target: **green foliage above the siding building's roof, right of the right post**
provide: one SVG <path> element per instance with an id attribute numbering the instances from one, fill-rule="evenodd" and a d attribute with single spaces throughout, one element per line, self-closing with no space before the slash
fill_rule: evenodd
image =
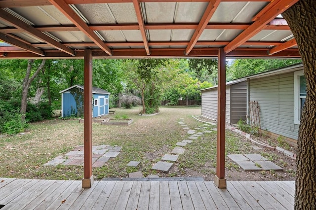
<path id="1" fill-rule="evenodd" d="M 237 79 L 301 62 L 302 60 L 299 59 L 236 59 L 229 67 L 228 71 L 232 74 L 231 79 Z"/>

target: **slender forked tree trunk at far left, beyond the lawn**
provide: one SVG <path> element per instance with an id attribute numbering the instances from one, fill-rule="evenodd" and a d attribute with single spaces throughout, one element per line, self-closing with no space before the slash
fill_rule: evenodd
<path id="1" fill-rule="evenodd" d="M 21 99 L 20 113 L 22 114 L 23 120 L 25 119 L 26 105 L 27 105 L 27 101 L 28 101 L 28 92 L 29 92 L 30 85 L 31 85 L 32 81 L 37 77 L 40 70 L 44 67 L 45 60 L 43 60 L 41 62 L 39 68 L 35 71 L 35 73 L 30 78 L 33 63 L 34 63 L 34 60 L 28 61 L 28 68 L 26 70 L 26 74 L 25 74 L 25 77 L 23 79 L 23 84 L 22 84 L 22 99 Z"/>

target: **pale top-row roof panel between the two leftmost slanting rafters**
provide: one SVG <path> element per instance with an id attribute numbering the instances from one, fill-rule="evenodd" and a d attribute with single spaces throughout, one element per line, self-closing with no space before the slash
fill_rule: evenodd
<path id="1" fill-rule="evenodd" d="M 73 24 L 54 6 L 16 7 L 12 10 L 24 16 L 36 26 Z"/>

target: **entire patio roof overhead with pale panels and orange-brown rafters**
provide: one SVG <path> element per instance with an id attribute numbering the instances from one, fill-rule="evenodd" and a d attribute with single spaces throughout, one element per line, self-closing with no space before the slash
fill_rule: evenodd
<path id="1" fill-rule="evenodd" d="M 0 0 L 0 59 L 299 58 L 298 0 Z"/>

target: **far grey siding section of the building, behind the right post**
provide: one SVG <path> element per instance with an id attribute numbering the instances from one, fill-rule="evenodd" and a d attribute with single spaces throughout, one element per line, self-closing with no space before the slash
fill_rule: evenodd
<path id="1" fill-rule="evenodd" d="M 226 123 L 246 119 L 246 82 L 226 86 Z M 217 88 L 202 91 L 202 115 L 217 120 Z"/>

